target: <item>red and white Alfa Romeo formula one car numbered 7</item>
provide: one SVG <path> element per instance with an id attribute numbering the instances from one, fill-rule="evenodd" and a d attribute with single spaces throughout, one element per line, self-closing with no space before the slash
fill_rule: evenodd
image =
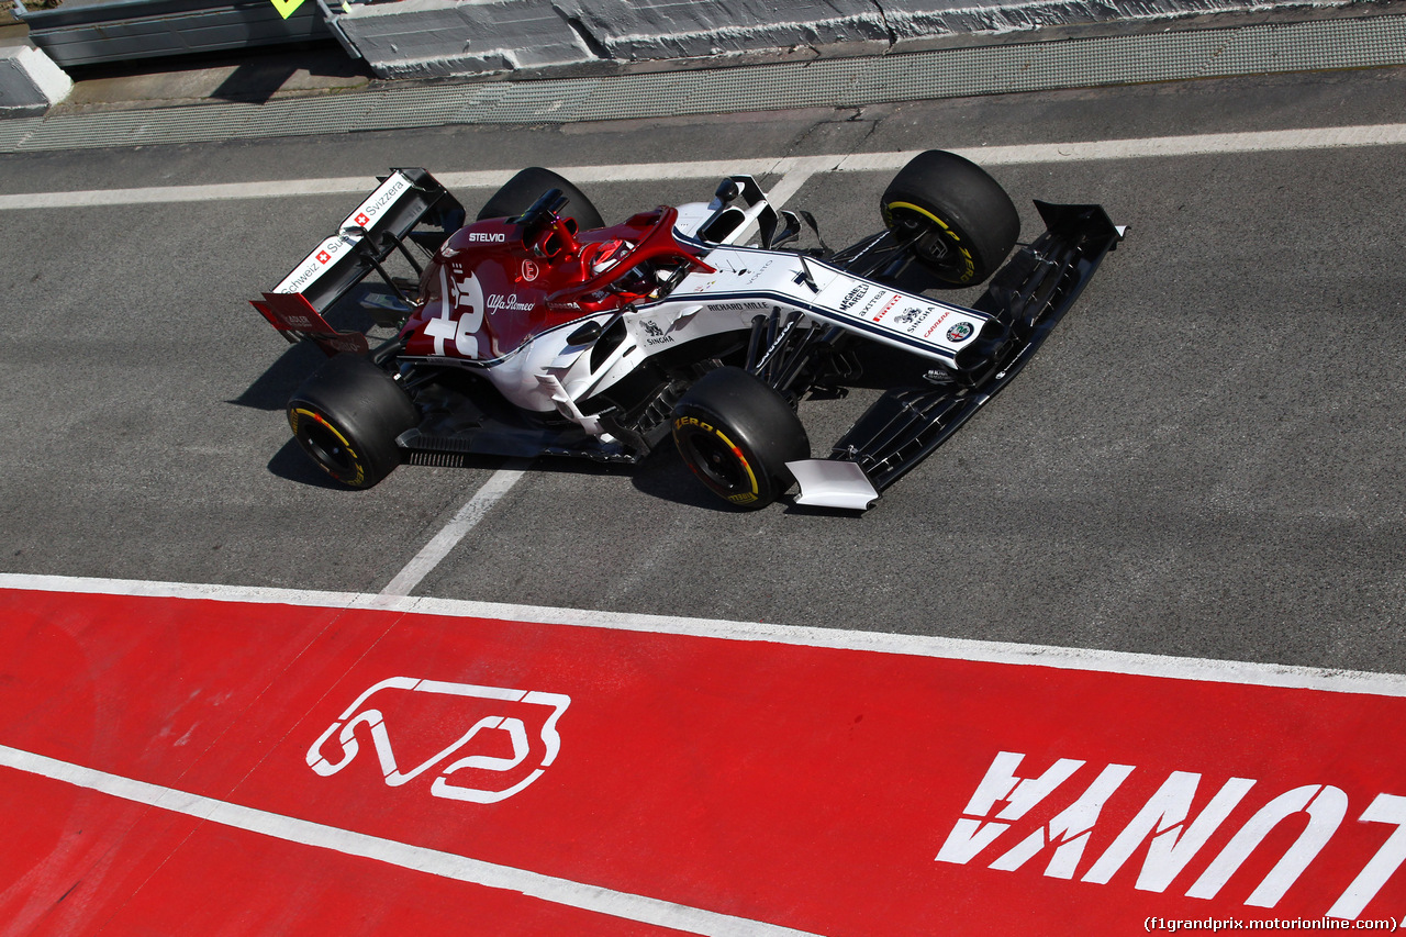
<path id="1" fill-rule="evenodd" d="M 1098 205 L 1035 204 L 1047 231 L 1002 267 L 1014 204 L 942 151 L 900 170 L 884 229 L 842 250 L 749 176 L 710 203 L 606 225 L 569 181 L 524 169 L 464 224 L 427 172 L 396 169 L 253 305 L 332 356 L 288 422 L 350 487 L 406 459 L 636 463 L 672 433 L 733 505 L 799 483 L 796 504 L 863 511 L 1011 380 L 1122 239 Z M 787 248 L 806 228 L 820 246 Z M 387 270 L 392 255 L 413 279 Z M 323 317 L 371 272 L 394 294 L 381 322 L 394 335 L 374 349 Z M 993 274 L 972 308 L 922 295 Z M 797 402 L 842 393 L 876 346 L 915 364 L 894 371 L 911 380 L 811 459 Z"/>

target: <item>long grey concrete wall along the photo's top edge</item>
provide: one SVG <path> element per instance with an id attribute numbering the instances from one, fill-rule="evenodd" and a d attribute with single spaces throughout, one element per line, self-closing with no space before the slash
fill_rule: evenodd
<path id="1" fill-rule="evenodd" d="M 333 7 L 381 77 L 436 77 L 769 49 L 882 52 L 952 34 L 1354 0 L 402 0 Z"/>

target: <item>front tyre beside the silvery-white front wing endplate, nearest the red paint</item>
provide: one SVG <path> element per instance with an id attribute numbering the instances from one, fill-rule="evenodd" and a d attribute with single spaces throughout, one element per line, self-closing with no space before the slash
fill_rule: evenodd
<path id="1" fill-rule="evenodd" d="M 794 484 L 787 461 L 810 459 L 806 428 L 786 398 L 740 367 L 711 370 L 683 394 L 673 443 L 704 485 L 747 511 Z"/>

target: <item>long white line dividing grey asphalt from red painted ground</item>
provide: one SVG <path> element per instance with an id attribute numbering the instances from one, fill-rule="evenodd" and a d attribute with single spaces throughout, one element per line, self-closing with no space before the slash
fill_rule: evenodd
<path id="1" fill-rule="evenodd" d="M 0 588 L 39 592 L 83 592 L 101 595 L 136 595 L 149 598 L 205 599 L 214 602 L 254 602 L 274 605 L 305 605 L 333 609 L 384 609 L 416 615 L 444 615 L 453 618 L 488 618 L 508 622 L 540 622 L 567 627 L 605 627 L 651 635 L 692 635 L 740 642 L 770 642 L 799 647 L 831 647 L 882 654 L 914 657 L 942 657 L 946 660 L 983 661 L 1053 667 L 1056 670 L 1087 670 L 1135 677 L 1171 680 L 1199 680 L 1218 684 L 1244 684 L 1316 689 L 1323 692 L 1369 694 L 1375 696 L 1406 696 L 1406 675 L 1375 674 L 1354 670 L 1320 667 L 1292 667 L 1256 664 L 1234 660 L 1205 660 L 1197 657 L 1167 657 L 1128 651 L 1092 650 L 1084 647 L 1053 647 L 1047 644 L 1012 644 L 980 642 L 962 637 L 931 637 L 925 635 L 890 635 L 886 632 L 855 632 L 838 627 L 806 627 L 766 622 L 730 622 L 724 619 L 682 618 L 673 615 L 638 615 L 624 612 L 595 612 L 572 608 L 544 608 L 540 605 L 509 605 L 502 602 L 472 602 L 408 595 L 373 595 L 364 592 L 318 592 L 311 589 L 281 589 L 254 585 L 214 585 L 193 582 L 149 582 L 143 580 L 103 580 L 69 575 L 32 575 L 0 573 Z"/>

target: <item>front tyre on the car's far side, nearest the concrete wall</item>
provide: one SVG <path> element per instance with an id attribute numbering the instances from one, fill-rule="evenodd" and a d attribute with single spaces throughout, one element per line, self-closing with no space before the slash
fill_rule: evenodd
<path id="1" fill-rule="evenodd" d="M 983 283 L 1021 236 L 1021 217 L 1001 184 L 941 149 L 898 170 L 879 207 L 896 235 L 917 235 L 914 256 L 950 286 Z"/>

